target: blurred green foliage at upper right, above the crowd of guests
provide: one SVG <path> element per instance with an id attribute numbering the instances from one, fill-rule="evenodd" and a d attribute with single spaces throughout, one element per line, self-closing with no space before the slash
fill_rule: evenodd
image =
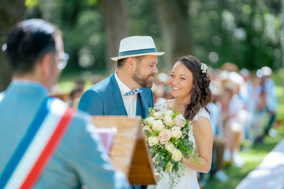
<path id="1" fill-rule="evenodd" d="M 219 67 L 225 62 L 258 69 L 281 65 L 280 1 L 192 0 L 195 55 Z"/>

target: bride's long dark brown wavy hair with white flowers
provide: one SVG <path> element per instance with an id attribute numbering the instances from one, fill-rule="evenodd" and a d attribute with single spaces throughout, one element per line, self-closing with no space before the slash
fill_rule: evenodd
<path id="1" fill-rule="evenodd" d="M 207 105 L 212 100 L 212 92 L 209 89 L 211 79 L 206 73 L 201 71 L 201 62 L 194 56 L 187 55 L 178 58 L 176 63 L 184 64 L 187 69 L 192 72 L 193 75 L 193 89 L 191 92 L 191 100 L 188 105 L 185 106 L 184 117 L 188 120 L 193 120 L 193 117 L 198 113 L 201 108 L 204 108 L 209 114 Z"/>

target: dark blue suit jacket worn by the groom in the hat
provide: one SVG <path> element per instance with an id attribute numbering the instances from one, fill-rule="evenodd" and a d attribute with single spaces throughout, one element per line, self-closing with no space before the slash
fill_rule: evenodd
<path id="1" fill-rule="evenodd" d="M 149 107 L 153 107 L 153 93 L 151 89 L 139 89 L 143 92 L 137 95 L 136 115 L 145 118 Z M 140 98 L 142 100 L 141 109 L 139 108 Z M 91 115 L 127 115 L 114 73 L 90 87 L 81 97 L 78 109 Z"/>

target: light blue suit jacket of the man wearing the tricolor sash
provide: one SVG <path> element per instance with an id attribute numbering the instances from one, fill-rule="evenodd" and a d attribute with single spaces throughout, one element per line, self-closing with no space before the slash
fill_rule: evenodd
<path id="1" fill-rule="evenodd" d="M 31 82 L 12 82 L 5 91 L 0 100 L 0 174 L 47 93 Z M 125 175 L 113 170 L 90 120 L 86 113 L 75 114 L 34 188 L 129 188 Z"/>

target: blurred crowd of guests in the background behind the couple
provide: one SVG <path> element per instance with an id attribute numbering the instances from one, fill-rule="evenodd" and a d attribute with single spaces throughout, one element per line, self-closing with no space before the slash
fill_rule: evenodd
<path id="1" fill-rule="evenodd" d="M 262 143 L 267 134 L 275 136 L 277 133 L 272 127 L 277 99 L 269 67 L 264 66 L 252 74 L 245 68 L 239 70 L 234 63 L 225 63 L 220 69 L 209 66 L 208 73 L 212 80 L 210 89 L 213 101 L 208 108 L 211 112 L 214 141 L 212 169 L 208 174 L 199 175 L 202 188 L 206 186 L 209 175 L 226 182 L 229 177 L 223 171 L 224 164 L 243 167 L 245 163 L 239 156 L 239 151 L 254 143 Z M 95 75 L 92 83 L 101 80 L 101 76 Z M 84 88 L 85 81 L 77 79 L 70 94 L 54 96 L 77 109 Z M 154 103 L 172 98 L 168 74 L 159 73 L 154 77 L 152 91 Z"/>

